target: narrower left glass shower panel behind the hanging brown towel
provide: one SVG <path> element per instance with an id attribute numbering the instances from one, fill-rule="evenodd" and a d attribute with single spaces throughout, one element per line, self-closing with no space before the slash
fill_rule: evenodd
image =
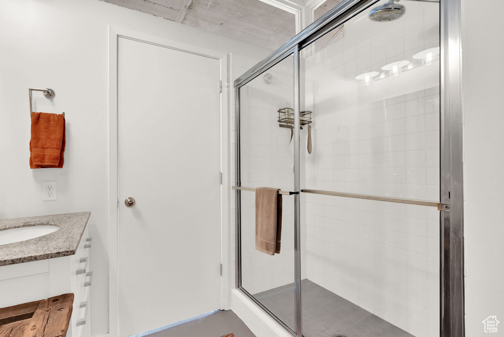
<path id="1" fill-rule="evenodd" d="M 291 55 L 239 89 L 243 188 L 293 191 L 293 69 Z M 294 196 L 282 195 L 281 250 L 268 255 L 255 247 L 256 193 L 240 193 L 241 287 L 294 330 Z"/>

